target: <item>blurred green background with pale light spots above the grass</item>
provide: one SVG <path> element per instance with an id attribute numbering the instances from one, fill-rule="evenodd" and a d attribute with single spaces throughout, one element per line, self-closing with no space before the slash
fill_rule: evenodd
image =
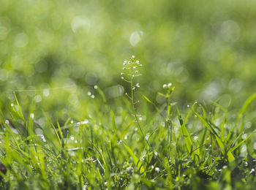
<path id="1" fill-rule="evenodd" d="M 132 55 L 154 102 L 173 83 L 181 104 L 233 99 L 240 107 L 256 89 L 255 47 L 253 0 L 1 0 L 1 109 L 13 91 L 41 89 L 16 92 L 24 109 L 34 100 L 60 118 L 82 117 L 94 109 L 94 85 L 109 102 L 127 90 L 120 72 Z"/>

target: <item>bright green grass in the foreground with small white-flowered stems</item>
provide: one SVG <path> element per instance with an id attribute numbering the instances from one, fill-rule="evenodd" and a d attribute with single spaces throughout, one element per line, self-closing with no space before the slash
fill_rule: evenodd
<path id="1" fill-rule="evenodd" d="M 130 91 L 118 107 L 94 86 L 95 113 L 63 126 L 36 118 L 35 102 L 23 112 L 14 94 L 0 113 L 1 189 L 254 189 L 256 131 L 244 126 L 256 94 L 236 118 L 218 102 L 179 110 L 171 83 L 159 92 L 165 104 L 138 104 L 138 66 L 124 61 Z"/>

